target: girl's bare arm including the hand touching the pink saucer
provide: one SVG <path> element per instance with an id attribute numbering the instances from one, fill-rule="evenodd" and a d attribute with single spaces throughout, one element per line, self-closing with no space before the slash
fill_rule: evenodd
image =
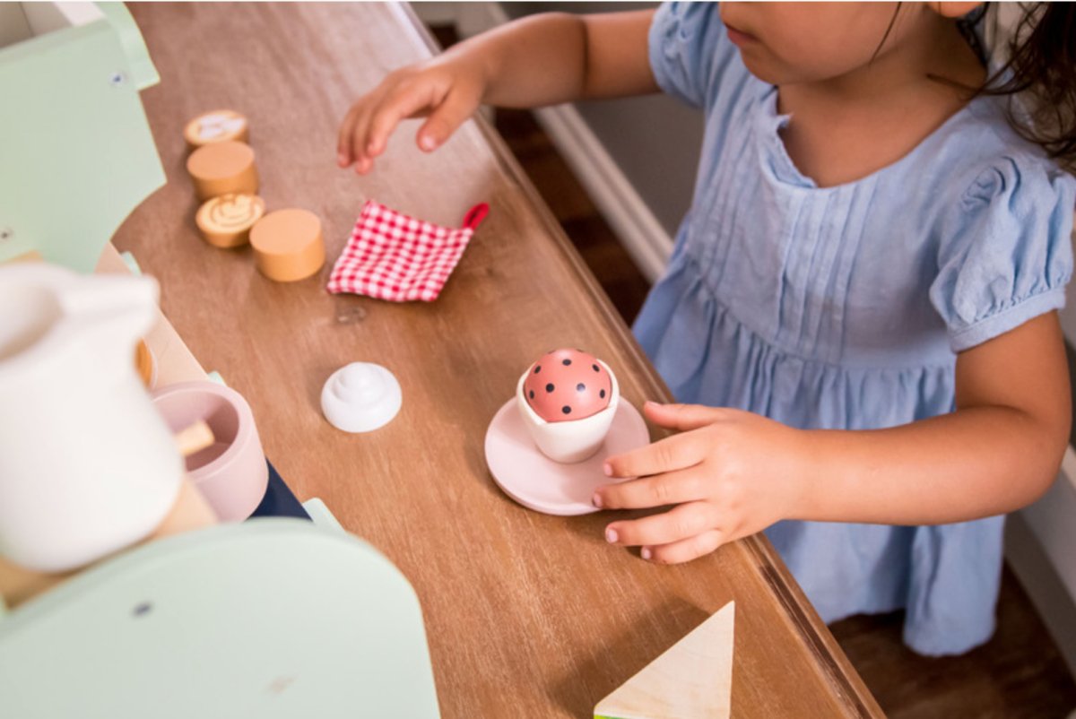
<path id="1" fill-rule="evenodd" d="M 611 457 L 604 508 L 676 505 L 607 539 L 683 562 L 781 519 L 940 524 L 1013 511 L 1053 481 L 1072 408 L 1057 313 L 957 361 L 957 411 L 891 429 L 799 431 L 738 410 L 649 406 L 683 431 Z M 649 475 L 649 476 L 648 476 Z"/>

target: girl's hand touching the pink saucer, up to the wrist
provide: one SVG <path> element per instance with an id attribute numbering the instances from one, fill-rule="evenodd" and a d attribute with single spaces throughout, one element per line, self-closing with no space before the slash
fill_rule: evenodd
<path id="1" fill-rule="evenodd" d="M 810 463 L 806 433 L 736 409 L 656 403 L 643 409 L 651 422 L 681 434 L 609 457 L 607 475 L 639 479 L 599 488 L 594 505 L 676 506 L 612 522 L 610 544 L 639 546 L 642 559 L 676 564 L 795 517 Z"/>

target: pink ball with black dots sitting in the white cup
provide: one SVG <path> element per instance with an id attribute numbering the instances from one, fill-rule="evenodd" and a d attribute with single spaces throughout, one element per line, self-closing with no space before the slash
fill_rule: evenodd
<path id="1" fill-rule="evenodd" d="M 547 422 L 568 422 L 597 414 L 612 399 L 609 370 L 582 350 L 553 350 L 527 370 L 527 404 Z"/>

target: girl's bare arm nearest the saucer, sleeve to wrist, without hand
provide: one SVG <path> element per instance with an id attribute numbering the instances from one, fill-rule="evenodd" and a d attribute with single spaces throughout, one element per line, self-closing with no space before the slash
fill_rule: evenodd
<path id="1" fill-rule="evenodd" d="M 1014 511 L 1053 482 L 1072 422 L 1056 312 L 957 358 L 957 411 L 811 434 L 810 519 L 943 524 Z M 831 468 L 827 471 L 826 468 Z"/>

